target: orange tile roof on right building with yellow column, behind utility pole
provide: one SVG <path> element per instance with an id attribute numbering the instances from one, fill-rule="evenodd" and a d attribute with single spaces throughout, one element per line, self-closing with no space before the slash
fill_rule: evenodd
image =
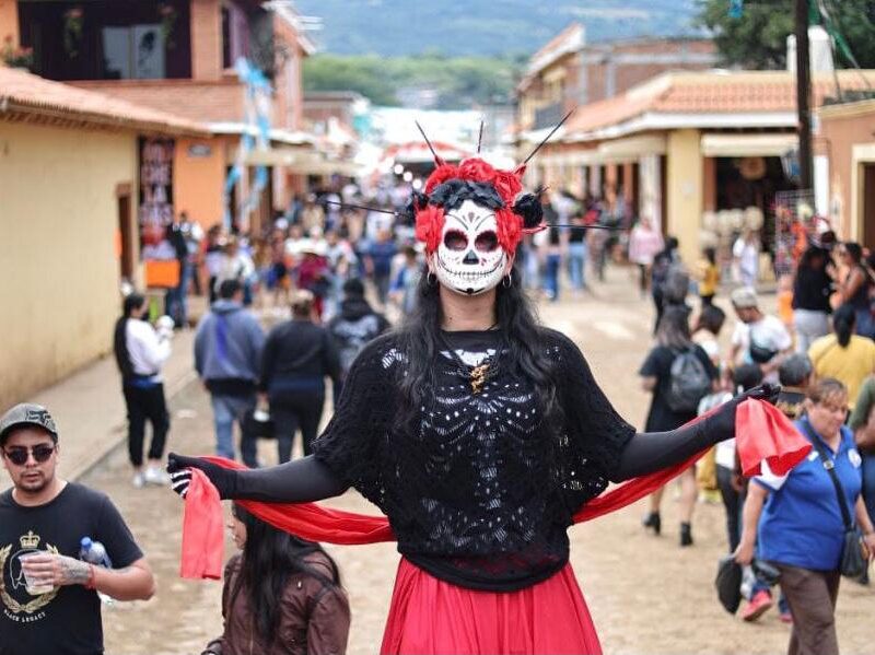
<path id="1" fill-rule="evenodd" d="M 875 71 L 839 71 L 843 90 L 875 87 Z M 864 80 L 865 78 L 865 80 Z M 812 81 L 812 104 L 835 94 L 832 74 Z M 668 72 L 618 96 L 580 107 L 565 127 L 567 138 L 618 127 L 644 115 L 782 114 L 796 110 L 795 75 L 788 71 Z M 691 120 L 690 127 L 695 127 Z"/>

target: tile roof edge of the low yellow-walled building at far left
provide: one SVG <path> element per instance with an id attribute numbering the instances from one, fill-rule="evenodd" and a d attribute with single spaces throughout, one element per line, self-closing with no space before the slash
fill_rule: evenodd
<path id="1" fill-rule="evenodd" d="M 206 127 L 166 112 L 0 66 L 0 117 L 3 114 L 35 115 L 143 133 L 209 134 Z"/>

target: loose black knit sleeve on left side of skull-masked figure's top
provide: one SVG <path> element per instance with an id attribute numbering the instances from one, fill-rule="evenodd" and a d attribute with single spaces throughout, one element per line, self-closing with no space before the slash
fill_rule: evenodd
<path id="1" fill-rule="evenodd" d="M 317 459 L 381 508 L 385 493 L 381 461 L 395 416 L 390 371 L 396 363 L 390 337 L 369 343 L 343 382 L 330 422 L 313 442 Z"/>

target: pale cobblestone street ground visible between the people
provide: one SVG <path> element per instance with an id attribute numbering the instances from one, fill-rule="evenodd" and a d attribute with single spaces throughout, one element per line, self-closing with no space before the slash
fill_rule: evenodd
<path id="1" fill-rule="evenodd" d="M 559 303 L 542 304 L 540 312 L 544 323 L 576 340 L 620 412 L 641 426 L 648 397 L 639 388 L 635 372 L 650 344 L 652 309 L 649 300 L 638 297 L 630 273 L 609 269 L 607 282 L 593 293 L 565 294 Z M 199 384 L 191 383 L 178 394 L 172 400 L 172 410 L 170 448 L 189 454 L 211 452 L 210 408 Z M 265 458 L 271 460 L 271 444 L 261 446 Z M 182 503 L 168 490 L 135 491 L 129 478 L 125 453 L 119 448 L 84 481 L 109 493 L 119 505 L 155 570 L 159 594 L 149 603 L 104 608 L 106 652 L 198 654 L 221 631 L 221 583 L 178 578 Z M 775 610 L 757 624 L 745 624 L 718 604 L 713 576 L 718 558 L 725 550 L 722 505 L 697 507 L 696 545 L 681 550 L 673 495 L 669 491 L 664 503 L 661 538 L 642 530 L 641 503 L 571 530 L 572 564 L 605 652 L 785 652 L 789 629 Z M 354 492 L 328 504 L 362 513 L 376 511 Z M 226 557 L 231 549 L 229 541 Z M 328 546 L 328 550 L 340 565 L 351 597 L 349 652 L 375 653 L 398 563 L 394 546 Z M 875 596 L 870 589 L 842 581 L 838 609 L 842 653 L 871 652 L 874 611 Z"/>

